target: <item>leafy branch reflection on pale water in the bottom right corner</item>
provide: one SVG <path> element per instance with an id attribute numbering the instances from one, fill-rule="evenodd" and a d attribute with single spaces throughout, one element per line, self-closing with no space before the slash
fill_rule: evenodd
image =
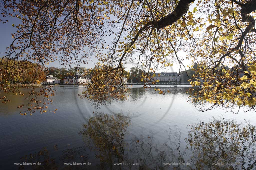
<path id="1" fill-rule="evenodd" d="M 242 126 L 224 119 L 192 125 L 188 133 L 190 149 L 193 152 L 191 158 L 196 169 L 255 169 L 255 140 L 255 126 Z M 238 165 L 225 166 L 224 163 Z"/>

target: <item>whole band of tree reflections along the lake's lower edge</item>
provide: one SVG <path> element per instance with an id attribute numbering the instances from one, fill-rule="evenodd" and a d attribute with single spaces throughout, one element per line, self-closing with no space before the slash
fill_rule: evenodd
<path id="1" fill-rule="evenodd" d="M 59 158 L 53 156 L 57 146 L 52 155 L 45 147 L 23 156 L 20 162 L 42 163 L 29 166 L 31 169 L 256 169 L 256 129 L 247 122 L 212 118 L 188 125 L 185 139 L 177 126 L 169 127 L 165 142 L 156 139 L 153 132 L 129 134 L 129 126 L 128 115 L 96 112 L 79 132 L 83 146 L 65 149 Z M 184 148 L 182 140 L 187 143 Z M 73 162 L 91 165 L 64 165 Z"/>

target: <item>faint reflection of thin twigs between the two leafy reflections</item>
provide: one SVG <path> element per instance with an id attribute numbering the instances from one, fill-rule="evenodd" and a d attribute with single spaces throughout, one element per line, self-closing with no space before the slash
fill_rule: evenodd
<path id="1" fill-rule="evenodd" d="M 137 169 L 184 169 L 180 165 L 164 165 L 164 163 L 184 163 L 182 153 L 180 153 L 180 129 L 169 128 L 166 130 L 168 136 L 164 143 L 155 142 L 153 132 L 150 135 L 144 136 L 143 131 L 141 135 L 133 138 L 129 152 L 126 155 L 127 162 L 141 163 Z"/>

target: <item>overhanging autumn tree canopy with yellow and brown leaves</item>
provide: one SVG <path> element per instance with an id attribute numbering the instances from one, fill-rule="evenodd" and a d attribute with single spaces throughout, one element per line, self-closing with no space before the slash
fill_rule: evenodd
<path id="1" fill-rule="evenodd" d="M 55 60 L 70 67 L 96 57 L 93 83 L 82 95 L 97 105 L 127 98 L 122 83 L 127 63 L 141 68 L 147 82 L 152 81 L 149 73 L 175 62 L 179 71 L 186 70 L 184 61 L 190 59 L 191 66 L 197 63 L 191 77 L 193 102 L 207 101 L 211 108 L 255 107 L 256 0 L 1 0 L 1 10 L 1 22 L 8 23 L 7 17 L 21 21 L 13 24 L 17 32 L 2 53 L 5 59 L 46 68 Z M 17 76 L 7 70 L 1 76 Z M 5 83 L 1 87 L 13 90 Z M 41 91 L 45 97 L 54 95 L 50 88 Z M 30 112 L 44 111 L 34 106 L 39 99 L 31 103 Z"/>

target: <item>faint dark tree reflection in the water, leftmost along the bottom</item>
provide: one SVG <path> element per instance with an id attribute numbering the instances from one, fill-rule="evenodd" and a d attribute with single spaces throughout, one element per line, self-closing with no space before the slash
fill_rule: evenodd
<path id="1" fill-rule="evenodd" d="M 38 153 L 25 155 L 20 159 L 23 163 L 41 163 L 41 165 L 22 165 L 19 169 L 57 169 L 55 159 L 52 158 L 47 148 L 44 147 Z"/>

